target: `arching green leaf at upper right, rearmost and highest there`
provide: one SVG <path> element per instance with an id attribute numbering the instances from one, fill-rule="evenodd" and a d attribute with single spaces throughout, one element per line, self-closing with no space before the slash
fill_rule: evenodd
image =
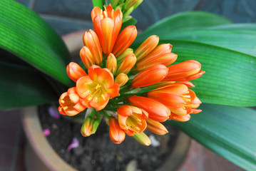
<path id="1" fill-rule="evenodd" d="M 136 38 L 135 43 L 141 43 L 153 34 L 158 36 L 170 35 L 175 31 L 188 31 L 231 23 L 225 17 L 203 11 L 183 12 L 169 16 L 153 24 Z"/>

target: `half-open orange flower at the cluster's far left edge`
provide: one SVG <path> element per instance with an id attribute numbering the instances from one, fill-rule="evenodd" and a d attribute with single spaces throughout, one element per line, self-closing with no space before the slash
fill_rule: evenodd
<path id="1" fill-rule="evenodd" d="M 87 108 L 81 103 L 81 98 L 76 92 L 76 88 L 69 88 L 68 92 L 61 95 L 58 102 L 60 106 L 58 107 L 58 112 L 62 115 L 77 115 Z"/>

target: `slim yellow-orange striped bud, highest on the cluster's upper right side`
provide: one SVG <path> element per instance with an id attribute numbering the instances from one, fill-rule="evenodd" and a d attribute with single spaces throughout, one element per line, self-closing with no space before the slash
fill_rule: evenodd
<path id="1" fill-rule="evenodd" d="M 149 36 L 135 51 L 135 56 L 137 61 L 142 60 L 145 56 L 148 55 L 153 49 L 158 45 L 159 37 L 158 36 Z"/>

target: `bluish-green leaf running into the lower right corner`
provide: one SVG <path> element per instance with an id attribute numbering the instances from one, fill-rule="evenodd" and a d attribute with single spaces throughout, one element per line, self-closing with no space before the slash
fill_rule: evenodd
<path id="1" fill-rule="evenodd" d="M 198 142 L 245 170 L 256 170 L 256 110 L 202 104 L 186 123 L 171 121 Z"/>

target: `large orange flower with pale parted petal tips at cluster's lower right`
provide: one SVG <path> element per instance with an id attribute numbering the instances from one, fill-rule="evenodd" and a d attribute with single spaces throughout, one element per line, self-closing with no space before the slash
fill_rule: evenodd
<path id="1" fill-rule="evenodd" d="M 188 115 L 201 111 L 195 109 L 199 107 L 200 100 L 195 96 L 193 90 L 183 84 L 171 84 L 150 90 L 148 98 L 158 100 L 177 115 Z"/>

